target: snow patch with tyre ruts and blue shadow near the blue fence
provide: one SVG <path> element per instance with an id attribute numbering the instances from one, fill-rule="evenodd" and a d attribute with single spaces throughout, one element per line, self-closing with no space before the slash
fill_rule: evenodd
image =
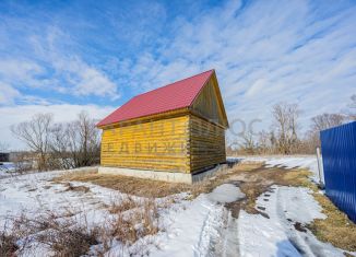
<path id="1" fill-rule="evenodd" d="M 308 230 L 294 229 L 296 222 L 325 219 L 309 189 L 273 186 L 258 198 L 257 207 L 265 208 L 269 218 L 240 212 L 240 256 L 343 256 L 342 250 L 319 242 Z"/>

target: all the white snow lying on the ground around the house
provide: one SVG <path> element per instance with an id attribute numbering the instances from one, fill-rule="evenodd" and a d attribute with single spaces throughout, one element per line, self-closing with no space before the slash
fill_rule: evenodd
<path id="1" fill-rule="evenodd" d="M 241 160 L 242 159 L 242 160 Z M 262 161 L 266 166 L 285 168 L 309 168 L 313 177 L 318 175 L 313 156 L 250 156 L 242 162 Z M 86 170 L 86 168 L 83 168 Z M 78 172 L 81 172 L 79 170 Z M 104 208 L 112 199 L 124 194 L 88 183 L 74 183 L 90 191 L 67 190 L 63 184 L 54 184 L 51 178 L 66 171 L 11 176 L 0 179 L 0 226 L 4 217 L 25 211 L 75 211 L 74 219 L 91 225 L 105 222 L 110 213 Z M 310 231 L 298 231 L 315 219 L 324 219 L 321 207 L 308 188 L 273 186 L 257 199 L 258 210 L 264 214 L 250 214 L 241 210 L 238 219 L 232 217 L 225 203 L 242 200 L 246 196 L 233 184 L 223 184 L 210 194 L 202 194 L 193 200 L 186 200 L 186 194 L 173 196 L 177 199 L 161 210 L 164 230 L 135 243 L 149 244 L 150 256 L 343 256 L 342 250 L 319 242 Z M 164 199 L 156 199 L 157 202 Z M 268 217 L 268 218 L 266 218 Z M 94 250 L 94 246 L 92 250 Z M 47 249 L 48 250 L 48 249 Z M 94 253 L 94 252 L 93 252 Z M 46 256 L 46 248 L 39 248 L 36 256 Z M 122 243 L 114 241 L 106 256 L 129 256 Z"/>

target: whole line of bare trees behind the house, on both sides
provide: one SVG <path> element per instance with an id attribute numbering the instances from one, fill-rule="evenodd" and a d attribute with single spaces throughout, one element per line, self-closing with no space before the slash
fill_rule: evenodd
<path id="1" fill-rule="evenodd" d="M 321 130 L 356 120 L 356 95 L 351 97 L 345 110 L 312 117 L 306 132 L 300 130 L 300 115 L 297 104 L 275 104 L 271 109 L 271 128 L 258 133 L 245 131 L 227 143 L 227 154 L 315 153 L 320 147 Z M 35 163 L 39 171 L 99 164 L 100 131 L 85 112 L 70 122 L 55 122 L 51 114 L 36 114 L 27 121 L 13 125 L 11 131 L 31 150 L 13 160 L 19 170 L 26 170 L 28 163 Z"/>

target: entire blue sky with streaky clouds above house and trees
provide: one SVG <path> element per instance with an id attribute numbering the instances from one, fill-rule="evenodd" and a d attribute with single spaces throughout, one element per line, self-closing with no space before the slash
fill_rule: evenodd
<path id="1" fill-rule="evenodd" d="M 228 118 L 310 117 L 356 84 L 355 1 L 1 1 L 0 141 L 35 113 L 103 118 L 135 94 L 214 68 Z"/>

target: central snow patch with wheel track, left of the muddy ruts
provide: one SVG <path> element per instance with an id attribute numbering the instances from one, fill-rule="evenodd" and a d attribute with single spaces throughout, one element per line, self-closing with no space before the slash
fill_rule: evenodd
<path id="1" fill-rule="evenodd" d="M 222 203 L 242 198 L 245 194 L 239 187 L 223 184 L 210 194 L 182 202 L 178 211 L 173 210 L 166 215 L 168 233 L 158 236 L 159 248 L 151 256 L 212 256 L 217 250 L 232 252 L 230 245 L 224 245 L 223 231 L 228 224 L 236 225 L 236 222 L 230 220 Z M 237 240 L 237 233 L 234 240 Z"/>

